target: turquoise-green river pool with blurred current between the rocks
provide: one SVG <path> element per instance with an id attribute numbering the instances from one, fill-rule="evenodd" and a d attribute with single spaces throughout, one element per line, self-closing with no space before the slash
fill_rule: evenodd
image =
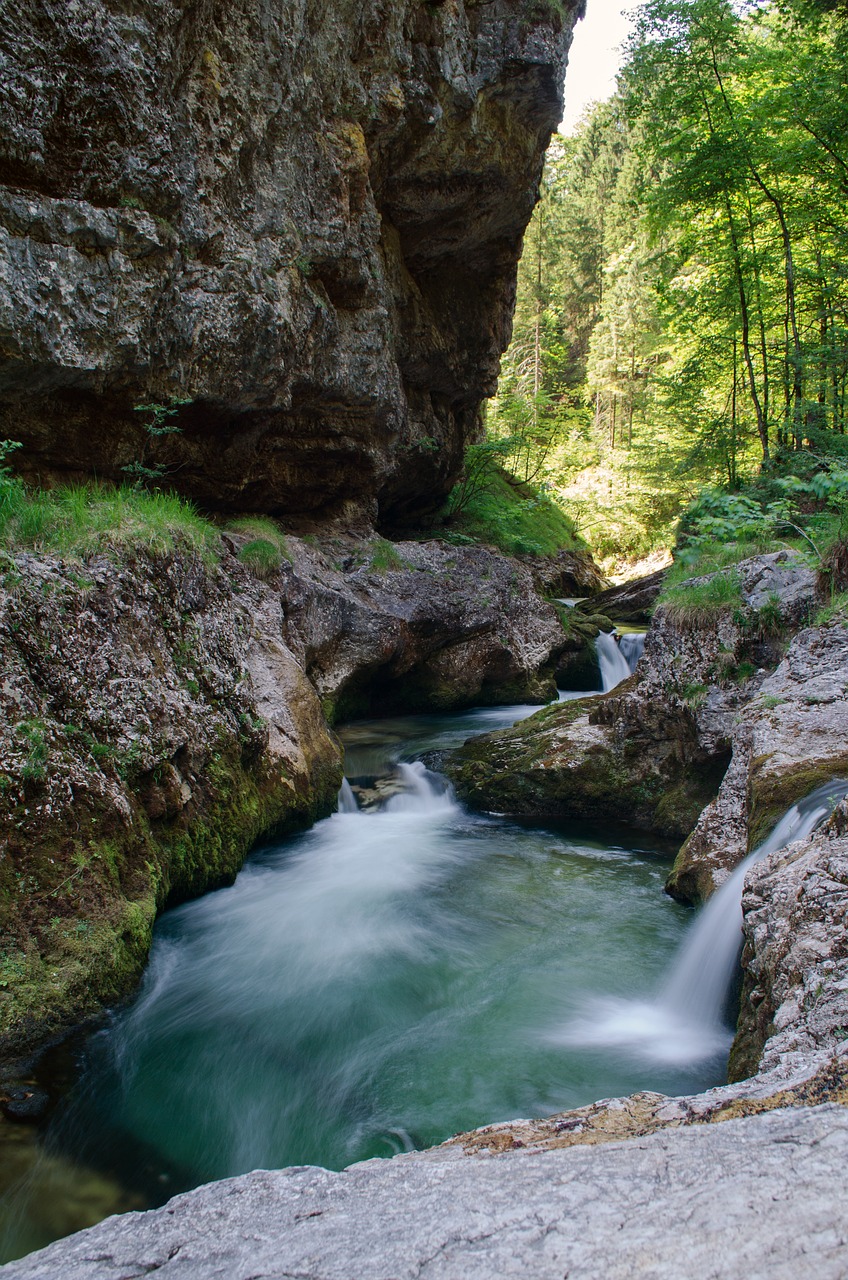
<path id="1" fill-rule="evenodd" d="M 76 1083 L 8 1172 L 4 1257 L 254 1167 L 341 1169 L 722 1080 L 726 1037 L 666 1061 L 564 1033 L 667 972 L 692 914 L 662 892 L 673 850 L 469 814 L 418 762 L 535 709 L 352 726 L 346 773 L 375 808 L 257 849 L 161 918 L 138 997 L 74 1050 Z"/>

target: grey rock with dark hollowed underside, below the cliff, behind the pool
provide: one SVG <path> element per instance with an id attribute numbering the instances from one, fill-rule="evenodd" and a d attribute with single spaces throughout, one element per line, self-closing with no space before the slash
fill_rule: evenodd
<path id="1" fill-rule="evenodd" d="M 567 639 L 518 562 L 437 541 L 289 547 L 283 635 L 337 719 L 556 696 Z"/>

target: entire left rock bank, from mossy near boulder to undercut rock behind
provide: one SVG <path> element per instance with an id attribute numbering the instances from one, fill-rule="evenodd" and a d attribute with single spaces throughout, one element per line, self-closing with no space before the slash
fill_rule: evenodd
<path id="1" fill-rule="evenodd" d="M 224 534 L 0 586 L 0 1051 L 132 989 L 167 904 L 334 806 L 354 712 L 544 701 L 569 644 L 484 548 L 288 540 L 257 577 Z"/>

